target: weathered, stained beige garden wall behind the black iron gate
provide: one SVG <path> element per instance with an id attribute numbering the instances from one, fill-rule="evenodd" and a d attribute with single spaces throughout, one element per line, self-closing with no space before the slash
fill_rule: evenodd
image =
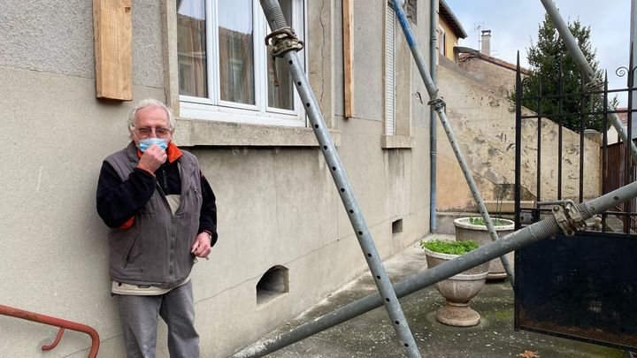
<path id="1" fill-rule="evenodd" d="M 438 66 L 441 95 L 447 102 L 449 123 L 457 136 L 464 160 L 485 201 L 495 201 L 498 184 L 515 183 L 515 105 L 508 99 L 468 79 L 454 65 Z M 526 110 L 525 115 L 531 114 Z M 557 125 L 542 118 L 541 198 L 557 195 Z M 535 200 L 537 175 L 537 120 L 522 123 L 522 200 Z M 441 125 L 438 133 L 444 135 Z M 563 198 L 579 195 L 579 133 L 563 129 Z M 585 139 L 584 196 L 599 194 L 599 144 Z M 476 211 L 472 194 L 457 164 L 449 141 L 438 138 L 437 204 L 439 211 Z M 513 200 L 512 190 L 504 200 Z"/>

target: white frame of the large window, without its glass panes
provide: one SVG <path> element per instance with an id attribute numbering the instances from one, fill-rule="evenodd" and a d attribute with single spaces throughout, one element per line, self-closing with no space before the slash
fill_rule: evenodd
<path id="1" fill-rule="evenodd" d="M 206 66 L 208 98 L 179 95 L 180 117 L 193 119 L 209 119 L 222 122 L 247 123 L 265 126 L 307 126 L 305 110 L 293 86 L 294 110 L 273 108 L 268 106 L 267 86 L 267 49 L 265 34 L 270 33 L 265 15 L 258 0 L 252 0 L 253 9 L 253 54 L 254 54 L 254 86 L 255 104 L 223 101 L 219 85 L 219 27 L 216 19 L 217 3 L 220 0 L 205 0 L 206 11 Z M 292 27 L 301 40 L 306 38 L 308 0 L 292 0 Z M 297 52 L 305 68 L 308 68 L 305 52 Z M 277 61 L 282 59 L 277 58 Z"/>

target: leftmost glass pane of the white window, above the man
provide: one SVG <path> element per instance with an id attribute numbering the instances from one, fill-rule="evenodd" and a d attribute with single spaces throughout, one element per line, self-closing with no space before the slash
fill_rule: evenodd
<path id="1" fill-rule="evenodd" d="M 207 97 L 204 0 L 177 2 L 180 94 Z"/>

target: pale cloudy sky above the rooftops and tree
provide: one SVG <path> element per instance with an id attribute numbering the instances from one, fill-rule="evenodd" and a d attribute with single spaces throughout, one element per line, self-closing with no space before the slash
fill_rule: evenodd
<path id="1" fill-rule="evenodd" d="M 481 30 L 491 30 L 491 56 L 528 66 L 526 50 L 537 42 L 538 27 L 544 20 L 540 0 L 446 0 L 464 27 L 467 38 L 459 46 L 479 50 Z M 631 0 L 554 0 L 562 18 L 579 19 L 591 28 L 591 44 L 596 49 L 599 68 L 608 71 L 609 88 L 625 88 L 626 77 L 618 77 L 618 67 L 628 66 L 630 52 Z M 620 103 L 625 98 L 619 97 Z"/>

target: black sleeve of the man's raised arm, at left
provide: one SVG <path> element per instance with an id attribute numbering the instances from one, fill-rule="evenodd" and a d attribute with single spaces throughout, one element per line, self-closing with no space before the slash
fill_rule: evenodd
<path id="1" fill-rule="evenodd" d="M 115 228 L 134 217 L 150 200 L 156 182 L 154 175 L 139 168 L 122 181 L 111 164 L 104 161 L 97 182 L 97 213 L 104 224 Z"/>

